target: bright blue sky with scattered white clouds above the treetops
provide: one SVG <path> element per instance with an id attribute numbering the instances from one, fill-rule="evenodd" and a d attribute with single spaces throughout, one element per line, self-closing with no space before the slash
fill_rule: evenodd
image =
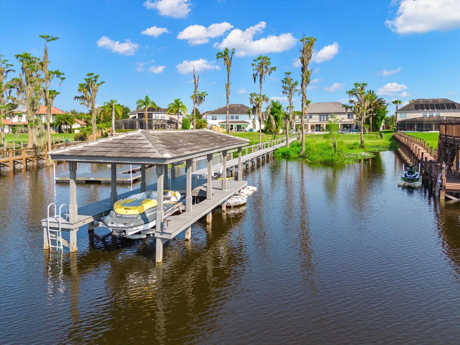
<path id="1" fill-rule="evenodd" d="M 191 110 L 193 64 L 209 94 L 201 110 L 224 106 L 226 70 L 216 61 L 224 46 L 238 55 L 230 103 L 249 105 L 260 53 L 277 68 L 263 92 L 281 98 L 285 71 L 300 81 L 302 32 L 316 37 L 313 102 L 345 103 L 354 82 L 388 101 L 460 101 L 460 1 L 0 1 L 0 16 L 0 52 L 17 68 L 14 54 L 42 56 L 38 35 L 60 37 L 49 54 L 50 68 L 67 78 L 54 86 L 65 110 L 84 110 L 73 97 L 88 72 L 105 81 L 98 104 L 115 98 L 134 109 L 148 94 L 161 107 L 182 98 Z M 299 97 L 294 105 L 300 109 Z"/>

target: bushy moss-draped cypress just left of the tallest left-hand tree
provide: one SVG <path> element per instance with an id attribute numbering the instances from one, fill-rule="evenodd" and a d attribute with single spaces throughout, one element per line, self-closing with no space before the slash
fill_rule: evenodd
<path id="1" fill-rule="evenodd" d="M 35 143 L 32 132 L 35 122 L 35 113 L 32 112 L 32 102 L 34 102 L 35 94 L 43 82 L 40 74 L 40 59 L 29 53 L 16 54 L 15 57 L 21 63 L 21 73 L 19 74 L 19 78 L 13 78 L 11 82 L 16 88 L 19 104 L 27 109 L 27 148 L 31 148 Z"/>

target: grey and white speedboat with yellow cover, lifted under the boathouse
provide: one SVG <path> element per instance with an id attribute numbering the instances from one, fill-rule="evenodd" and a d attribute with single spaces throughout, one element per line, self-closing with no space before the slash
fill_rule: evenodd
<path id="1" fill-rule="evenodd" d="M 166 218 L 178 210 L 181 195 L 178 191 L 163 192 L 163 211 Z M 104 225 L 117 236 L 143 238 L 146 232 L 155 227 L 156 192 L 147 190 L 116 201 L 114 208 L 104 218 Z"/>

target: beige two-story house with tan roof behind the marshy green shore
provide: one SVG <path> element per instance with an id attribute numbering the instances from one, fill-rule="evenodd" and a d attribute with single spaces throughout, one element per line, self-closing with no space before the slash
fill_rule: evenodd
<path id="1" fill-rule="evenodd" d="M 352 111 L 345 111 L 343 104 L 339 102 L 315 102 L 308 106 L 308 113 L 305 115 L 306 131 L 311 133 L 325 131 L 326 124 L 333 114 L 338 119 L 340 132 L 358 130 L 355 114 Z M 299 115 L 296 124 L 300 123 L 301 118 L 302 115 Z"/>

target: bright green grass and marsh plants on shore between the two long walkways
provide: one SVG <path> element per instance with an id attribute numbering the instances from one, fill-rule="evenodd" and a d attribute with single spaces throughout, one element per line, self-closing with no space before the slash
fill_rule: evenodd
<path id="1" fill-rule="evenodd" d="M 360 146 L 359 134 L 339 134 L 337 150 L 322 134 L 310 134 L 305 136 L 305 151 L 301 152 L 301 144 L 294 141 L 287 147 L 281 147 L 274 152 L 274 155 L 284 158 L 298 158 L 304 161 L 322 164 L 346 164 L 353 163 L 366 158 L 374 157 L 377 152 L 397 150 L 396 140 L 393 138 L 393 131 L 382 131 L 379 134 L 369 134 Z"/>

